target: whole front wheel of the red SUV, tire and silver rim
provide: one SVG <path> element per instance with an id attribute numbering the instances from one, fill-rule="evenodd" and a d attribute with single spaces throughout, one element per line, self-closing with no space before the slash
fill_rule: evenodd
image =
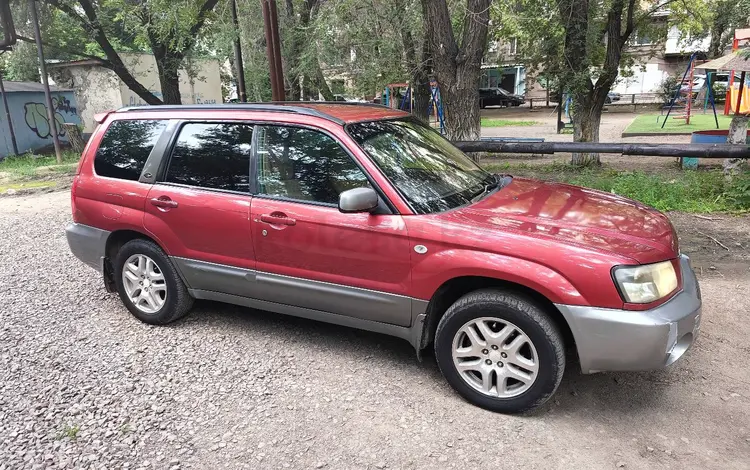
<path id="1" fill-rule="evenodd" d="M 501 413 L 534 409 L 555 393 L 565 370 L 562 336 L 526 297 L 494 289 L 460 298 L 440 319 L 435 357 L 466 400 Z"/>

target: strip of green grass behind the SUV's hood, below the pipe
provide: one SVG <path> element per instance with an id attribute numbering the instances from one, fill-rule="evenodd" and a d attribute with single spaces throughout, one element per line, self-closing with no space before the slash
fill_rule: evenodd
<path id="1" fill-rule="evenodd" d="M 570 183 L 643 202 L 661 211 L 737 212 L 750 210 L 750 171 L 727 182 L 720 170 L 646 173 L 548 165 L 489 164 L 490 171 Z"/>

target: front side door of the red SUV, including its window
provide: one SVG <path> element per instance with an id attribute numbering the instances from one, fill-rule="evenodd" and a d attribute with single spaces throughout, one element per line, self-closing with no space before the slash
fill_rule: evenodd
<path id="1" fill-rule="evenodd" d="M 264 300 L 408 326 L 408 233 L 400 215 L 344 214 L 341 192 L 370 182 L 331 136 L 256 128 L 251 227 Z M 382 196 L 381 196 L 382 198 Z"/>

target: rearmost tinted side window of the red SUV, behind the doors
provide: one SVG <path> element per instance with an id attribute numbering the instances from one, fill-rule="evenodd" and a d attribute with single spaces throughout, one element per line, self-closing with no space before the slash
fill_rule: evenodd
<path id="1" fill-rule="evenodd" d="M 102 137 L 94 157 L 100 176 L 138 181 L 143 166 L 167 121 L 114 121 Z"/>

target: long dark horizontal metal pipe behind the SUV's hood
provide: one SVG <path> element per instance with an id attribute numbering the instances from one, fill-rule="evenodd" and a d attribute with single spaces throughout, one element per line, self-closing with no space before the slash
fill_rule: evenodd
<path id="1" fill-rule="evenodd" d="M 750 146 L 730 144 L 611 144 L 603 142 L 454 142 L 464 152 L 614 153 L 651 157 L 750 158 Z"/>

